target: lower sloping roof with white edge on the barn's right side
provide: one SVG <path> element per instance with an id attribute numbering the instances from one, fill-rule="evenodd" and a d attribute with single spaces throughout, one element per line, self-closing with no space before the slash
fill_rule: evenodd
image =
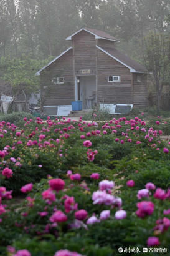
<path id="1" fill-rule="evenodd" d="M 98 49 L 108 54 L 108 56 L 112 57 L 116 61 L 120 62 L 124 66 L 128 67 L 130 69 L 131 73 L 147 73 L 146 67 L 139 64 L 136 61 L 133 61 L 133 59 L 130 59 L 130 57 L 126 56 L 122 52 L 118 51 L 114 47 L 100 47 L 97 46 Z"/>

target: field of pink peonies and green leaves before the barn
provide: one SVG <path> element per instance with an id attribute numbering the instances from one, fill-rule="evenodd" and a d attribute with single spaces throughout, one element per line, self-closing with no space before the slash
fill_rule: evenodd
<path id="1" fill-rule="evenodd" d="M 1 121 L 0 255 L 170 255 L 164 134 L 169 121 L 143 113 Z"/>

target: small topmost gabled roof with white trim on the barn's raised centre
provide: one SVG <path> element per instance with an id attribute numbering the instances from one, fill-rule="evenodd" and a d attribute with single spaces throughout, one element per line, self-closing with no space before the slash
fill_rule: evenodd
<path id="1" fill-rule="evenodd" d="M 88 29 L 87 27 L 78 30 L 77 32 L 75 32 L 71 36 L 68 36 L 65 40 L 72 40 L 73 36 L 75 36 L 76 34 L 78 34 L 79 32 L 81 32 L 83 30 L 90 33 L 90 34 L 93 34 L 93 36 L 95 36 L 95 39 L 105 39 L 105 40 L 119 42 L 118 39 L 116 39 L 113 36 L 110 36 L 110 34 L 107 34 L 103 31 L 100 31 L 100 30 L 97 30 L 97 29 Z"/>

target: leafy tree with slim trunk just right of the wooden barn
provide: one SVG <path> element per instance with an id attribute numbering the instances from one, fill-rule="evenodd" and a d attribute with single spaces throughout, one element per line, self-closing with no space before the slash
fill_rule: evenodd
<path id="1" fill-rule="evenodd" d="M 157 112 L 160 111 L 163 86 L 170 83 L 170 36 L 151 32 L 144 38 L 144 61 L 151 72 L 152 81 L 156 89 Z"/>

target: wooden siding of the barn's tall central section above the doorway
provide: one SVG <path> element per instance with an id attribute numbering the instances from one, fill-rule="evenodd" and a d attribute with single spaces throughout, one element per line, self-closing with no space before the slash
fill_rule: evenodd
<path id="1" fill-rule="evenodd" d="M 92 34 L 81 31 L 73 36 L 75 57 L 75 74 L 80 75 L 80 70 L 90 69 L 90 74 L 95 74 L 96 69 L 96 41 Z"/>

